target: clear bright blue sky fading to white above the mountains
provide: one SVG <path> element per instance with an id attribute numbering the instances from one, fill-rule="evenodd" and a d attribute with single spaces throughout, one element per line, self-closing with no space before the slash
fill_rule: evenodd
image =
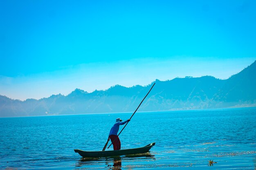
<path id="1" fill-rule="evenodd" d="M 0 95 L 227 79 L 256 60 L 255 0 L 0 1 Z"/>

